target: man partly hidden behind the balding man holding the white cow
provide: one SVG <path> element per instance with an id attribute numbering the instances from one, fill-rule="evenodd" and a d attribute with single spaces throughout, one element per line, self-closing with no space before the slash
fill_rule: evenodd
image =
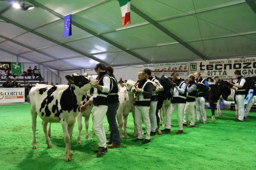
<path id="1" fill-rule="evenodd" d="M 146 79 L 151 80 L 152 82 L 157 82 L 160 85 L 159 81 L 151 76 L 151 71 L 149 69 L 143 70 L 146 73 Z M 157 106 L 157 93 L 152 94 L 150 98 L 150 109 L 149 109 L 149 119 L 151 125 L 150 136 L 156 134 L 156 106 Z"/>

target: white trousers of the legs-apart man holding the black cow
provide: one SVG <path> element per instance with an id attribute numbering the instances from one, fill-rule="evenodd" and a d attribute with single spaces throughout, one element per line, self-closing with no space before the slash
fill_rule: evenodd
<path id="1" fill-rule="evenodd" d="M 179 124 L 179 130 L 183 130 L 183 125 L 182 125 L 182 113 L 185 107 L 185 103 L 171 103 L 167 113 L 166 113 L 166 124 L 165 128 L 171 129 L 171 114 L 173 110 L 178 107 L 177 111 L 177 119 L 178 119 L 178 124 Z"/>

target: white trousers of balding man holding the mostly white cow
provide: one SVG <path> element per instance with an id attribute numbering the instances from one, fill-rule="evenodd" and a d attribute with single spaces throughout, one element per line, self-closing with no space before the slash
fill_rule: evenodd
<path id="1" fill-rule="evenodd" d="M 149 120 L 149 106 L 138 106 L 135 105 L 135 124 L 137 126 L 138 131 L 138 138 L 143 139 L 144 133 L 141 126 L 141 118 L 143 117 L 143 121 L 145 123 L 145 130 L 146 130 L 146 138 L 150 139 L 150 120 Z"/>

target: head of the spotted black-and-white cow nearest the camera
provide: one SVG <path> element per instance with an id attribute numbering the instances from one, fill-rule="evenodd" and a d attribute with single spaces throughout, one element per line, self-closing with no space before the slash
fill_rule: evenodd
<path id="1" fill-rule="evenodd" d="M 81 88 L 83 91 L 88 91 L 90 88 L 92 88 L 92 86 L 95 86 L 98 84 L 97 80 L 86 78 L 76 73 L 74 73 L 72 77 L 67 75 L 65 76 L 65 78 L 69 81 L 71 86 L 77 86 Z"/>

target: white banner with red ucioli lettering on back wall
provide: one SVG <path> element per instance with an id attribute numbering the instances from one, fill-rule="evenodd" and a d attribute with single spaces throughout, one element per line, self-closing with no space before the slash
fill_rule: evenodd
<path id="1" fill-rule="evenodd" d="M 188 62 L 179 63 L 160 63 L 160 64 L 146 64 L 143 69 L 151 70 L 151 76 L 171 76 L 174 72 L 179 73 L 179 76 L 188 75 Z"/>

